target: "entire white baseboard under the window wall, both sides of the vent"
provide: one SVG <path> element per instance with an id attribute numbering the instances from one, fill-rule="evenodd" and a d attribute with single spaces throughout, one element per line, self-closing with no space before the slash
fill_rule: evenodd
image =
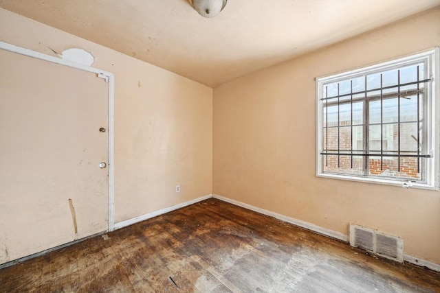
<path id="1" fill-rule="evenodd" d="M 287 222 L 290 224 L 294 224 L 296 226 L 300 226 L 302 228 L 306 228 L 307 230 L 313 231 L 318 234 L 322 234 L 331 238 L 335 238 L 341 240 L 343 242 L 349 242 L 349 235 L 345 235 L 344 233 L 336 232 L 333 230 L 329 230 L 327 228 L 322 228 L 320 226 L 316 226 L 315 224 L 311 224 L 308 222 L 304 222 L 301 220 L 296 220 L 294 218 L 287 217 L 285 215 L 281 215 L 279 213 L 274 213 L 273 211 L 267 211 L 266 209 L 261 209 L 259 207 L 254 207 L 250 204 L 245 204 L 243 202 L 239 202 L 237 200 L 231 200 L 230 198 L 225 198 L 224 196 L 219 196 L 218 194 L 212 194 L 213 198 L 217 198 L 219 200 L 223 200 L 224 202 L 229 202 L 230 204 L 234 204 L 239 207 L 243 207 L 245 209 L 250 209 L 251 211 L 256 211 L 257 213 L 262 213 L 263 215 L 268 215 L 272 218 L 276 218 L 283 222 Z M 434 270 L 436 272 L 440 272 L 440 265 L 437 263 L 433 263 L 431 261 L 427 261 L 426 259 L 419 259 L 418 257 L 413 257 L 412 255 L 404 255 L 404 261 L 408 263 L 415 264 L 416 266 L 425 266 L 430 270 Z"/>

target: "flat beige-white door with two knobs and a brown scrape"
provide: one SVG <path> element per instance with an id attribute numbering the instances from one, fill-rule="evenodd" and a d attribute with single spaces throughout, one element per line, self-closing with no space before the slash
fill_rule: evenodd
<path id="1" fill-rule="evenodd" d="M 107 230 L 108 91 L 0 49 L 0 263 Z"/>

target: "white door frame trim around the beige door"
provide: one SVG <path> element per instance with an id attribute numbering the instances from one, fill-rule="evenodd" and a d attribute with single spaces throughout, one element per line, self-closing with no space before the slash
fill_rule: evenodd
<path id="1" fill-rule="evenodd" d="M 32 51 L 30 49 L 25 49 L 23 47 L 18 47 L 12 44 L 4 43 L 0 41 L 0 49 L 5 51 L 10 51 L 12 53 L 21 54 L 23 56 L 28 56 L 47 62 L 56 63 L 59 65 L 65 65 L 68 67 L 73 67 L 75 69 L 80 69 L 90 73 L 96 73 L 99 78 L 104 78 L 106 82 L 109 83 L 109 226 L 107 231 L 113 231 L 115 229 L 115 164 L 114 164 L 114 120 L 115 120 L 115 76 L 113 73 L 104 71 L 101 69 L 96 69 L 94 67 L 89 67 L 87 65 L 82 65 L 80 63 L 72 62 L 69 60 L 64 60 L 62 58 L 57 58 L 54 56 L 46 55 L 37 51 Z"/>

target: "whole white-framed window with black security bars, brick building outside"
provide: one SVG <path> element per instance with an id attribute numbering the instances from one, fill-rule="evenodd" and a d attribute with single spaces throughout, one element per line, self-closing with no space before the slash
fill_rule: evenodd
<path id="1" fill-rule="evenodd" d="M 317 79 L 317 176 L 438 189 L 439 49 Z"/>

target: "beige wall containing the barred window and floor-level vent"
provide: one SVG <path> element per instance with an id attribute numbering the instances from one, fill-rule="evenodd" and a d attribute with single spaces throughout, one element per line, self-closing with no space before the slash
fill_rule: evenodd
<path id="1" fill-rule="evenodd" d="M 348 234 L 404 239 L 440 263 L 440 192 L 317 178 L 314 78 L 440 45 L 440 8 L 214 89 L 213 192 Z"/>

